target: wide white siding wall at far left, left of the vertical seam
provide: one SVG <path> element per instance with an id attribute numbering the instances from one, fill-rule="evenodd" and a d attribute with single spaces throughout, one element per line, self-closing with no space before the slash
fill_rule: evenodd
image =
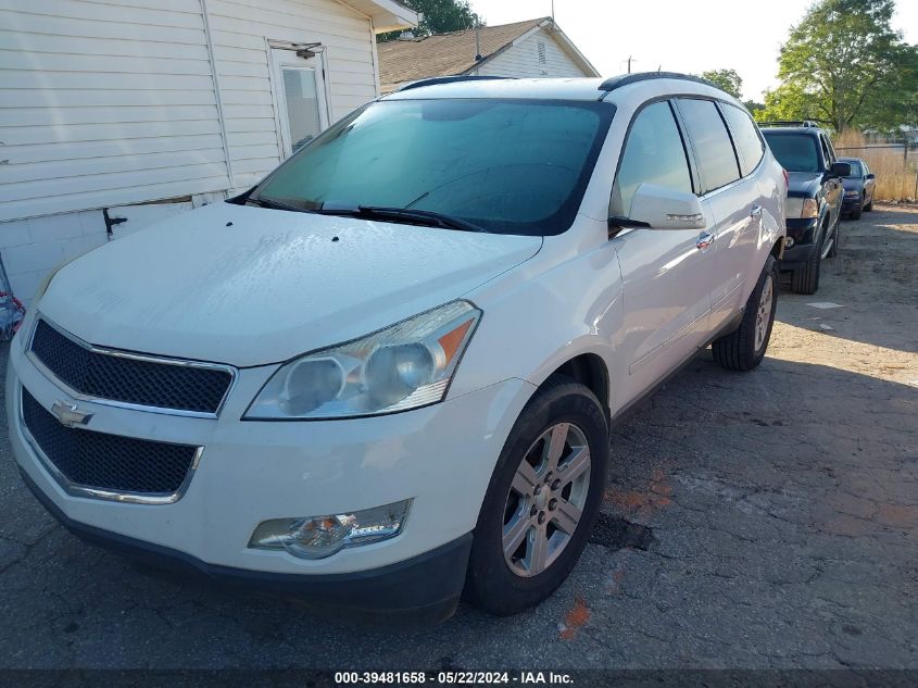
<path id="1" fill-rule="evenodd" d="M 0 221 L 226 189 L 200 0 L 0 0 Z"/>

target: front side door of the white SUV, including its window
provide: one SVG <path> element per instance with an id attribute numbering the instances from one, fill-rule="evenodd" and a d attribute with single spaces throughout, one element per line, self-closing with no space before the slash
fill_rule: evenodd
<path id="1" fill-rule="evenodd" d="M 693 191 L 670 105 L 645 107 L 631 123 L 613 188 L 611 215 L 628 216 L 643 183 Z M 708 218 L 709 220 L 709 218 Z M 712 223 L 713 224 L 713 223 Z M 616 380 L 633 399 L 705 342 L 714 251 L 706 229 L 627 229 L 612 239 L 624 279 L 625 323 Z"/>

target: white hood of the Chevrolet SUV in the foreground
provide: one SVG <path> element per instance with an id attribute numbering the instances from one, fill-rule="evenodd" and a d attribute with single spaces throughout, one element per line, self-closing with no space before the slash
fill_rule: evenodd
<path id="1" fill-rule="evenodd" d="M 216 203 L 66 265 L 38 309 L 97 346 L 253 366 L 456 299 L 541 246 Z"/>

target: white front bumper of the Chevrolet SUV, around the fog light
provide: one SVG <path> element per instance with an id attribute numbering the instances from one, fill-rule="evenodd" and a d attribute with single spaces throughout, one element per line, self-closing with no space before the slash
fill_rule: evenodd
<path id="1" fill-rule="evenodd" d="M 496 459 L 535 387 L 510 379 L 425 409 L 369 418 L 240 421 L 275 370 L 240 371 L 219 418 L 80 401 L 80 409 L 95 414 L 92 430 L 204 448 L 180 499 L 156 505 L 122 503 L 68 493 L 28 443 L 20 421 L 20 386 L 46 409 L 65 392 L 39 372 L 17 338 L 10 348 L 7 379 L 13 453 L 49 510 L 97 541 L 127 542 L 135 551 L 191 563 L 211 576 L 289 583 L 301 590 L 330 590 L 334 577 L 340 577 L 342 590 L 356 579 L 379 579 L 383 583 L 373 583 L 369 589 L 387 590 L 381 603 L 399 608 L 423 606 L 431 599 L 423 586 L 411 585 L 413 576 L 423 577 L 414 573 L 400 574 L 408 585 L 402 584 L 402 593 L 390 595 L 391 580 L 399 579 L 390 578 L 395 575 L 391 572 L 414 571 L 416 562 L 408 562 L 432 558 L 440 562 L 432 571 L 447 588 L 456 588 L 451 591 L 456 597 L 467 556 L 467 547 L 456 542 L 470 537 Z M 404 499 L 414 500 L 411 514 L 402 533 L 389 540 L 322 560 L 248 548 L 263 521 L 343 513 Z M 454 575 L 443 574 L 447 560 L 433 554 L 449 546 Z M 438 589 L 433 597 L 443 592 Z M 328 595 L 331 603 L 350 597 Z M 412 595 L 417 599 L 412 601 Z"/>

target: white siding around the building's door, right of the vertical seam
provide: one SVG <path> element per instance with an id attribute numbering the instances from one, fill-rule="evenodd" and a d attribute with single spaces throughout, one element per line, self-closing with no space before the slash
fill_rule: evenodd
<path id="1" fill-rule="evenodd" d="M 326 47 L 329 120 L 377 95 L 369 20 L 334 0 L 208 0 L 236 188 L 280 161 L 267 40 Z"/>

